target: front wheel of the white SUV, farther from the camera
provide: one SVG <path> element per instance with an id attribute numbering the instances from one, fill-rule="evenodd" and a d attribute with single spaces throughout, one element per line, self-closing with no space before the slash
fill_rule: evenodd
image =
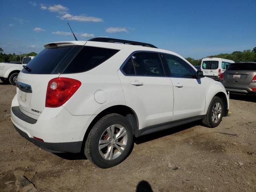
<path id="1" fill-rule="evenodd" d="M 214 97 L 210 102 L 206 116 L 203 118 L 202 123 L 204 126 L 214 128 L 218 126 L 222 120 L 224 113 L 224 104 L 221 98 Z"/>

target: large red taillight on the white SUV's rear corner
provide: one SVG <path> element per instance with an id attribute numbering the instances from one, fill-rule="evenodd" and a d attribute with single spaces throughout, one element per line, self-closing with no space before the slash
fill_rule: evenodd
<path id="1" fill-rule="evenodd" d="M 46 92 L 46 107 L 62 106 L 81 86 L 75 79 L 60 77 L 49 81 Z"/>

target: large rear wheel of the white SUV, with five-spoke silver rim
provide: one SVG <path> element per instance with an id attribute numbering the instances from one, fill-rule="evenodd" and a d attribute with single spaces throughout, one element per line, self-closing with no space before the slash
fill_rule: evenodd
<path id="1" fill-rule="evenodd" d="M 128 156 L 132 142 L 132 126 L 128 120 L 118 114 L 109 114 L 93 126 L 85 142 L 84 154 L 96 166 L 110 168 Z"/>

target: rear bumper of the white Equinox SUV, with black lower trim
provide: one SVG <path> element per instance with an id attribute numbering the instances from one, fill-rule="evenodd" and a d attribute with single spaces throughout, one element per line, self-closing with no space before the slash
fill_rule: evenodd
<path id="1" fill-rule="evenodd" d="M 35 120 L 19 110 L 16 96 L 11 108 L 11 120 L 16 130 L 30 142 L 52 152 L 80 152 L 85 132 L 95 116 L 73 116 L 61 106 L 44 108 Z"/>

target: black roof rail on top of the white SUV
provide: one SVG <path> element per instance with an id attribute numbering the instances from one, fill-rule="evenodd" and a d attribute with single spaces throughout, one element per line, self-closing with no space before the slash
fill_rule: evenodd
<path id="1" fill-rule="evenodd" d="M 122 40 L 122 39 L 105 38 L 105 37 L 96 37 L 96 38 L 89 39 L 88 41 L 98 41 L 98 42 L 108 42 L 108 43 L 123 43 L 123 44 L 140 45 L 140 46 L 144 46 L 144 47 L 157 48 L 156 46 L 154 46 L 152 44 L 148 44 L 148 43 Z"/>

